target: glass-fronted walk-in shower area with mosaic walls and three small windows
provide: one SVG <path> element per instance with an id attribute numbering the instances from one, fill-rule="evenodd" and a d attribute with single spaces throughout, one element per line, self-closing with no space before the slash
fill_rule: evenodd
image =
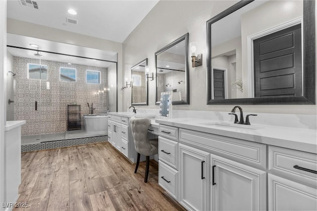
<path id="1" fill-rule="evenodd" d="M 16 74 L 7 74 L 7 95 L 12 92 L 14 101 L 7 104 L 7 120 L 26 120 L 22 145 L 95 136 L 84 128 L 87 102 L 94 103 L 95 114 L 117 111 L 116 53 L 7 34 L 7 64 Z M 88 79 L 87 71 L 100 72 L 99 80 Z"/>

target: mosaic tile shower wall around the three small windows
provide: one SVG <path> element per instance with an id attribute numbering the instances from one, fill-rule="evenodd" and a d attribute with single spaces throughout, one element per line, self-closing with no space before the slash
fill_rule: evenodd
<path id="1" fill-rule="evenodd" d="M 15 76 L 14 119 L 26 120 L 21 135 L 61 133 L 67 127 L 67 105 L 81 105 L 82 115 L 89 113 L 87 103 L 94 104 L 94 113 L 107 111 L 107 94 L 96 95 L 98 90 L 107 87 L 107 69 L 87 65 L 41 60 L 48 66 L 48 80 L 27 79 L 27 63 L 39 64 L 39 59 L 24 57 L 13 58 Z M 59 67 L 76 68 L 76 82 L 60 82 Z M 101 71 L 101 84 L 86 84 L 86 70 Z M 50 82 L 50 89 L 47 83 Z M 35 110 L 37 101 L 37 110 Z"/>

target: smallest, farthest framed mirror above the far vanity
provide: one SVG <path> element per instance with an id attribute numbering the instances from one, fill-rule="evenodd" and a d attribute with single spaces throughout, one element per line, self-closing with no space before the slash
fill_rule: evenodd
<path id="1" fill-rule="evenodd" d="M 149 84 L 145 75 L 148 58 L 131 67 L 131 105 L 148 105 Z"/>

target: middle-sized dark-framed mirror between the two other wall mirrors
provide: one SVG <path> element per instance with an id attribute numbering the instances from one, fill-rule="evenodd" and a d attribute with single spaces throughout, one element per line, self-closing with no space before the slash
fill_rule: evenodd
<path id="1" fill-rule="evenodd" d="M 187 33 L 155 53 L 156 104 L 165 91 L 173 92 L 173 105 L 189 104 L 188 38 Z"/>

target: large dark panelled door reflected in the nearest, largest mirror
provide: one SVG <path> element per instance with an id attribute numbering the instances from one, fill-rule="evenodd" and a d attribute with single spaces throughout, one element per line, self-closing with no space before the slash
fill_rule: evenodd
<path id="1" fill-rule="evenodd" d="M 301 24 L 253 43 L 255 97 L 302 96 Z"/>

